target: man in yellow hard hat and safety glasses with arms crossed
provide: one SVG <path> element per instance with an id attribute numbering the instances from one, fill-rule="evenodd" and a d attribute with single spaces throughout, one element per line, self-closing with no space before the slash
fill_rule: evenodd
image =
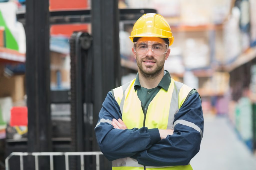
<path id="1" fill-rule="evenodd" d="M 95 127 L 99 147 L 112 169 L 190 170 L 204 120 L 197 91 L 164 70 L 170 26 L 161 15 L 144 14 L 130 39 L 138 73 L 107 94 Z"/>

